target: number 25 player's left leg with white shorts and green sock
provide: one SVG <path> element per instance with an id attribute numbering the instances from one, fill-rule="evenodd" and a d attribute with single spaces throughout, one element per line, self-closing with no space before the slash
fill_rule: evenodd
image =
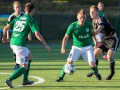
<path id="1" fill-rule="evenodd" d="M 12 86 L 12 81 L 18 77 L 20 77 L 28 68 L 28 53 L 25 54 L 25 49 L 18 46 L 11 46 L 11 48 L 16 53 L 16 62 L 20 64 L 22 67 L 15 70 L 10 77 L 5 81 L 5 83 L 10 87 Z"/>

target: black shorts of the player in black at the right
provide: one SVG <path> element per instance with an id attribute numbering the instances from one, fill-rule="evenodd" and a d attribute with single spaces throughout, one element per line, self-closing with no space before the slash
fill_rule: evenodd
<path id="1" fill-rule="evenodd" d="M 108 49 L 112 51 L 116 51 L 119 46 L 119 39 L 117 37 L 112 37 L 106 40 L 102 40 L 100 43 L 97 44 L 97 47 L 102 49 L 103 52 L 107 52 Z"/>

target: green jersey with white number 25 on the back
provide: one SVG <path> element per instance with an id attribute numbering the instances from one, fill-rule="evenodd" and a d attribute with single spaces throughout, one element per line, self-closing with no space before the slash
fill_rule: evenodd
<path id="1" fill-rule="evenodd" d="M 15 18 L 10 23 L 10 28 L 13 29 L 10 45 L 26 47 L 27 37 L 30 31 L 33 33 L 39 30 L 38 24 L 29 14 Z"/>

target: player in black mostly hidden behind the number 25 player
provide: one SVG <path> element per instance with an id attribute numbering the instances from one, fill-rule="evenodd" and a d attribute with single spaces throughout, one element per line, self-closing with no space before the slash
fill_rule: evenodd
<path id="1" fill-rule="evenodd" d="M 24 15 L 23 12 L 21 12 L 21 5 L 20 5 L 20 2 L 18 1 L 14 1 L 13 2 L 13 9 L 14 9 L 14 13 L 12 13 L 9 18 L 8 18 L 8 24 L 10 22 L 13 21 L 13 19 L 19 17 L 19 16 L 22 16 Z M 10 36 L 9 36 L 9 32 L 7 32 L 7 39 L 10 39 Z M 31 34 L 28 35 L 28 40 L 31 40 Z M 14 57 L 14 60 L 16 62 L 16 54 L 13 52 L 13 57 Z M 32 54 L 29 53 L 29 60 L 32 60 Z M 15 67 L 13 68 L 13 70 L 16 70 L 20 67 L 20 65 L 18 63 L 16 63 Z"/>

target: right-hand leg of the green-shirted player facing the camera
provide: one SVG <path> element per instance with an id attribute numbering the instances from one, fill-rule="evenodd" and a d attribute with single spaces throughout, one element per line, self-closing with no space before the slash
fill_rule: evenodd
<path id="1" fill-rule="evenodd" d="M 101 75 L 98 73 L 98 68 L 97 68 L 97 65 L 95 64 L 95 56 L 94 56 L 92 46 L 87 46 L 83 48 L 82 57 L 86 62 L 89 63 L 92 69 L 92 73 L 95 74 L 98 80 L 101 80 Z"/>

